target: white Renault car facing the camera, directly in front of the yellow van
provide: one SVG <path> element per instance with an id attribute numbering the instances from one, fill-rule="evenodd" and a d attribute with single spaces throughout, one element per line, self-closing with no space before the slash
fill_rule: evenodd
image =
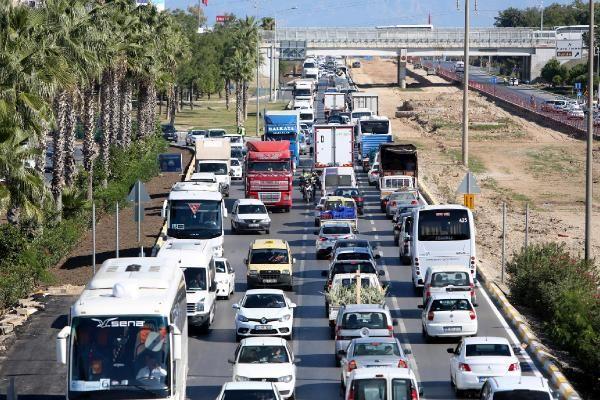
<path id="1" fill-rule="evenodd" d="M 280 289 L 248 290 L 235 314 L 236 339 L 247 336 L 285 336 L 292 338 L 296 304 Z"/>

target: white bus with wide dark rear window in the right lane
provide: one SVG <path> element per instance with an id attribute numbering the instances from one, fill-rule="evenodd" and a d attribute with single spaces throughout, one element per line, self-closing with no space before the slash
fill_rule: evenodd
<path id="1" fill-rule="evenodd" d="M 427 268 L 462 265 L 476 277 L 475 223 L 467 207 L 459 205 L 423 206 L 413 213 L 408 233 L 412 280 L 423 287 Z"/>

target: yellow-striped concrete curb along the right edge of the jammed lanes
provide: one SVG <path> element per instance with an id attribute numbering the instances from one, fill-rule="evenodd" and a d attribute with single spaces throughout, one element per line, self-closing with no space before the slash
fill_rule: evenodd
<path id="1" fill-rule="evenodd" d="M 419 189 L 428 204 L 439 204 L 429 189 L 421 182 L 419 182 Z M 528 353 L 542 366 L 542 370 L 550 378 L 549 380 L 560 394 L 561 399 L 581 400 L 575 388 L 554 364 L 553 357 L 545 350 L 542 342 L 531 331 L 523 315 L 510 304 L 502 290 L 491 279 L 485 276 L 485 272 L 482 269 L 477 270 L 477 275 L 480 277 L 480 281 L 485 286 L 488 294 L 500 306 L 500 311 L 504 317 L 513 326 L 519 340 L 527 345 Z"/>

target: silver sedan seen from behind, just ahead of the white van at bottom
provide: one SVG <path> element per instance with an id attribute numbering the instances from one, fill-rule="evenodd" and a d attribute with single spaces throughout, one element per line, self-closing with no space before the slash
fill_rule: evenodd
<path id="1" fill-rule="evenodd" d="M 350 373 L 357 368 L 408 368 L 405 351 L 395 337 L 352 339 L 348 348 L 340 354 L 341 384 L 344 390 Z"/>

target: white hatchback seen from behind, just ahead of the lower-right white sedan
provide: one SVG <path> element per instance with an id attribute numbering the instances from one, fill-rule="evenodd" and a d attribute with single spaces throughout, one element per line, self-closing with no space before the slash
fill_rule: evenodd
<path id="1" fill-rule="evenodd" d="M 421 323 L 426 340 L 432 337 L 477 334 L 477 314 L 470 292 L 432 293 L 423 308 Z"/>

